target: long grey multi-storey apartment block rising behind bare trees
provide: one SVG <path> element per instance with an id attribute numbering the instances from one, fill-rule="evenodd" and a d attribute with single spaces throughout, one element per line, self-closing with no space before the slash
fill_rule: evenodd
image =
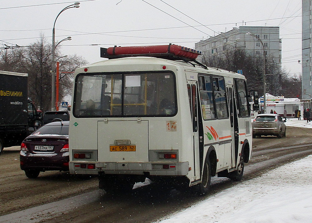
<path id="1" fill-rule="evenodd" d="M 202 51 L 207 57 L 222 57 L 227 50 L 241 48 L 252 55 L 263 56 L 263 46 L 255 37 L 246 35 L 252 33 L 258 36 L 263 42 L 266 55 L 270 57 L 281 69 L 281 39 L 279 27 L 261 27 L 261 26 L 240 26 L 232 30 L 212 36 L 206 40 L 195 43 L 195 49 Z M 197 59 L 205 63 L 203 58 Z"/>

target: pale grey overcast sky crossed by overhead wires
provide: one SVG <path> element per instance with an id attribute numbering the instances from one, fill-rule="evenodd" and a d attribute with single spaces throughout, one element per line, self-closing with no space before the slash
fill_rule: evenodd
<path id="1" fill-rule="evenodd" d="M 52 44 L 56 16 L 72 3 L 0 0 L 0 47 L 28 46 L 41 34 Z M 72 37 L 60 44 L 63 55 L 94 63 L 102 60 L 100 47 L 173 43 L 194 48 L 195 42 L 233 27 L 279 26 L 282 67 L 293 75 L 302 68 L 301 23 L 301 0 L 82 0 L 79 8 L 62 12 L 55 27 L 56 41 Z"/>

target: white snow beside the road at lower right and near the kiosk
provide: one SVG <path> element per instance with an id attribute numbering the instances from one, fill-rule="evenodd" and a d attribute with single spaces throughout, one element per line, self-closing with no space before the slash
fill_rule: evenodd
<path id="1" fill-rule="evenodd" d="M 286 126 L 312 128 L 312 122 L 287 119 Z M 242 181 L 161 223 L 312 222 L 312 155 Z"/>

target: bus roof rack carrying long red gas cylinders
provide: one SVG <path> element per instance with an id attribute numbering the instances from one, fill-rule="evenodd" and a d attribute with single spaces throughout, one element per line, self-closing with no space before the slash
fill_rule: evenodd
<path id="1" fill-rule="evenodd" d="M 114 46 L 109 48 L 100 48 L 102 58 L 116 59 L 123 57 L 135 57 L 135 56 L 151 56 L 167 60 L 182 60 L 195 65 L 196 63 L 204 69 L 207 66 L 196 61 L 197 56 L 202 52 L 196 51 L 184 46 L 178 46 L 174 44 L 161 45 L 161 46 Z"/>

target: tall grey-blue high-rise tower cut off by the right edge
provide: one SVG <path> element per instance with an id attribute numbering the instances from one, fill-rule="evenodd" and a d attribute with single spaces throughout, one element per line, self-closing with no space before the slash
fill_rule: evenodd
<path id="1" fill-rule="evenodd" d="M 302 0 L 302 99 L 311 100 L 311 0 Z"/>

